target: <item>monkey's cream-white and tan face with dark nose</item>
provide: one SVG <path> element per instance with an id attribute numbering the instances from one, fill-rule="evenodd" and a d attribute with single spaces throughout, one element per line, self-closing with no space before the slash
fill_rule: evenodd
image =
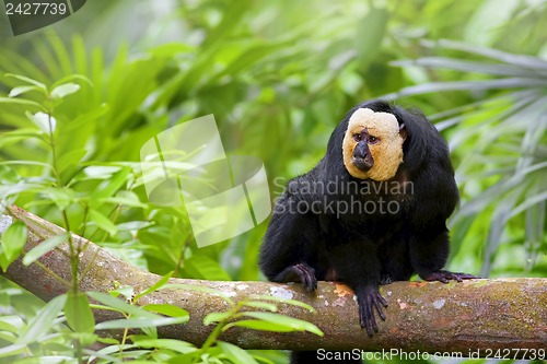
<path id="1" fill-rule="evenodd" d="M 406 131 L 399 129 L 393 114 L 359 108 L 349 118 L 344 136 L 344 165 L 356 178 L 393 178 L 403 162 L 405 138 Z"/>

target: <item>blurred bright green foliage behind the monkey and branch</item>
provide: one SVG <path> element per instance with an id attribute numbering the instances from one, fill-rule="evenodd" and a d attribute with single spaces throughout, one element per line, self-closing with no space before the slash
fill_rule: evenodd
<path id="1" fill-rule="evenodd" d="M 7 73 L 91 82 L 72 79 L 81 89 L 55 105 L 62 196 L 35 163 L 53 156 L 28 108 L 0 103 L 1 198 L 58 224 L 63 206 L 75 233 L 135 265 L 260 279 L 267 222 L 198 249 L 184 211 L 147 201 L 139 150 L 154 134 L 214 114 L 228 153 L 264 161 L 275 198 L 274 180 L 313 167 L 349 108 L 384 97 L 449 140 L 462 195 L 450 268 L 547 277 L 545 0 L 88 1 L 16 37 L 2 17 L 0 96 L 27 84 Z M 97 191 L 110 199 L 90 204 Z"/>

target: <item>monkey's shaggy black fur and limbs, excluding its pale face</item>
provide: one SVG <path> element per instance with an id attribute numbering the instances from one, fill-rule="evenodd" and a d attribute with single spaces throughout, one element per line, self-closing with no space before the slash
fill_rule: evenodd
<path id="1" fill-rule="evenodd" d="M 388 181 L 353 178 L 344 165 L 342 140 L 358 108 L 391 113 L 405 126 L 403 163 Z M 317 165 L 290 180 L 277 200 L 260 269 L 271 281 L 302 282 L 309 291 L 317 280 L 345 282 L 356 292 L 361 327 L 372 336 L 374 310 L 385 319 L 382 306 L 387 305 L 379 284 L 414 273 L 442 282 L 475 278 L 441 270 L 449 256 L 445 222 L 457 201 L 446 142 L 426 117 L 384 101 L 365 102 L 336 127 Z M 381 204 L 389 202 L 392 211 L 382 213 Z M 366 211 L 356 211 L 365 203 Z M 345 206 L 353 211 L 341 211 Z"/>

